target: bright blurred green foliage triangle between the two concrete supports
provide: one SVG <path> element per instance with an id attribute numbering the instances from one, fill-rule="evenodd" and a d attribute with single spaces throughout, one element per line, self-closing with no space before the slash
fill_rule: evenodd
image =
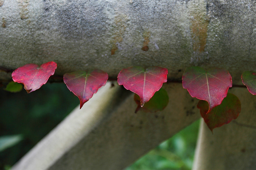
<path id="1" fill-rule="evenodd" d="M 199 120 L 162 142 L 126 170 L 191 170 Z"/>

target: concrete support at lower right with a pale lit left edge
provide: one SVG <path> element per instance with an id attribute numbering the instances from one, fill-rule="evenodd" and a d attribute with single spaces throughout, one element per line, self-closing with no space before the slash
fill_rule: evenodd
<path id="1" fill-rule="evenodd" d="M 232 88 L 241 101 L 241 113 L 228 125 L 214 129 L 204 122 L 196 149 L 193 170 L 253 170 L 256 167 L 256 96 L 247 89 Z"/>

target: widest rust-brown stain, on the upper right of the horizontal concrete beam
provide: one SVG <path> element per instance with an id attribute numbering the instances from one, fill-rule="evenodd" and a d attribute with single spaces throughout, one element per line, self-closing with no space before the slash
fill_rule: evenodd
<path id="1" fill-rule="evenodd" d="M 201 53 L 206 46 L 209 18 L 199 13 L 192 16 L 190 29 L 193 40 L 193 50 Z"/>

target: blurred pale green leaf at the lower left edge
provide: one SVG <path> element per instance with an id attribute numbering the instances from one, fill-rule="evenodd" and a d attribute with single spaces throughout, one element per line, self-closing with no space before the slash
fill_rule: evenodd
<path id="1" fill-rule="evenodd" d="M 0 137 L 0 152 L 16 145 L 22 140 L 22 135 L 10 135 Z"/>

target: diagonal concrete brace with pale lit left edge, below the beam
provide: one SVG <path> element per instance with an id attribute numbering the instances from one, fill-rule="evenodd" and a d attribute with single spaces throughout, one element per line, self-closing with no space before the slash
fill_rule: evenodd
<path id="1" fill-rule="evenodd" d="M 181 84 L 165 84 L 162 112 L 134 113 L 134 95 L 107 83 L 76 108 L 12 170 L 121 170 L 200 117 L 198 100 Z M 126 95 L 123 95 L 126 96 Z"/>

